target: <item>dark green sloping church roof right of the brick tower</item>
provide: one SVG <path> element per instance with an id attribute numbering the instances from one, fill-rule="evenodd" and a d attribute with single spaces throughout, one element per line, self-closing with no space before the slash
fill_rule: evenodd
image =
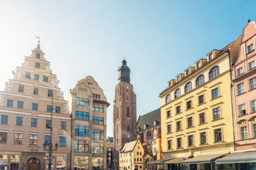
<path id="1" fill-rule="evenodd" d="M 145 130 L 151 127 L 154 127 L 154 121 L 156 121 L 156 125 L 160 125 L 161 123 L 161 111 L 160 108 L 148 112 L 147 114 L 143 114 L 138 118 L 137 121 L 137 129 Z M 146 127 L 145 127 L 146 125 Z M 138 131 L 140 131 L 138 130 Z"/>

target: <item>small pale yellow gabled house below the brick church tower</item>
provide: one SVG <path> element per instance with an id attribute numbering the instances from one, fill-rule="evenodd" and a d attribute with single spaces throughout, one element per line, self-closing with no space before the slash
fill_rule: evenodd
<path id="1" fill-rule="evenodd" d="M 120 169 L 144 169 L 144 149 L 140 143 L 140 140 L 125 143 L 119 152 Z"/>

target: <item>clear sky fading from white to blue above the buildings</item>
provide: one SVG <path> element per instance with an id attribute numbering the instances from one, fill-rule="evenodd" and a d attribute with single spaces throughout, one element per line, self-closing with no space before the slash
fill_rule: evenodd
<path id="1" fill-rule="evenodd" d="M 92 75 L 107 101 L 112 132 L 114 88 L 125 57 L 137 117 L 160 107 L 167 82 L 213 49 L 222 49 L 256 19 L 256 1 L 0 1 L 0 90 L 36 47 L 51 62 L 65 99 Z"/>

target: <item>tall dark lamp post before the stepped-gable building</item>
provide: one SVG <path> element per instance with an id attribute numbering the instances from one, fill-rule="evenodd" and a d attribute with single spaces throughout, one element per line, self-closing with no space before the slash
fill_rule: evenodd
<path id="1" fill-rule="evenodd" d="M 56 151 L 58 149 L 58 143 L 56 143 L 54 146 L 52 145 L 52 110 L 53 108 L 53 94 L 52 96 L 52 106 L 51 106 L 51 123 L 50 123 L 50 141 L 49 143 L 43 143 L 43 149 L 45 151 L 49 151 L 49 156 L 47 158 L 48 160 L 48 170 L 52 170 L 52 151 Z"/>

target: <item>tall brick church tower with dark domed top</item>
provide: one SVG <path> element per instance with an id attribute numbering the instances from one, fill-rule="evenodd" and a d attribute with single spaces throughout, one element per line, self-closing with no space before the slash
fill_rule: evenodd
<path id="1" fill-rule="evenodd" d="M 122 60 L 122 66 L 118 68 L 118 84 L 115 88 L 113 131 L 116 151 L 124 143 L 137 138 L 136 94 L 134 86 L 130 84 L 130 69 L 126 63 L 125 59 Z"/>

